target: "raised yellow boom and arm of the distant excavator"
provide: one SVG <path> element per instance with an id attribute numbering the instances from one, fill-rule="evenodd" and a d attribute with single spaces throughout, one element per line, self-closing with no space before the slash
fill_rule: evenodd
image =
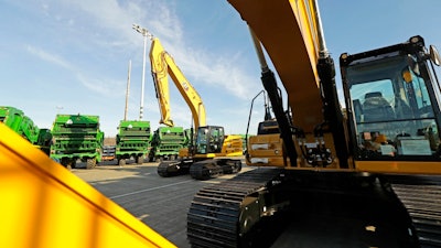
<path id="1" fill-rule="evenodd" d="M 171 119 L 170 110 L 170 75 L 185 103 L 189 105 L 190 110 L 192 111 L 195 129 L 197 130 L 198 127 L 206 126 L 205 107 L 202 103 L 202 98 L 174 63 L 173 57 L 166 51 L 164 51 L 161 42 L 157 37 L 152 37 L 149 56 L 154 88 L 157 90 L 157 98 L 161 111 L 160 123 L 169 127 L 174 126 L 173 120 Z"/>

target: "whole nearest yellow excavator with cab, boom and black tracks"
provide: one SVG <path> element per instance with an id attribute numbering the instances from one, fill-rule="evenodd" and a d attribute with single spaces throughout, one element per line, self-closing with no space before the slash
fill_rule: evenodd
<path id="1" fill-rule="evenodd" d="M 250 28 L 278 131 L 260 123 L 246 154 L 256 169 L 194 196 L 191 245 L 441 247 L 434 46 L 416 35 L 342 54 L 342 109 L 316 0 L 228 1 Z"/>

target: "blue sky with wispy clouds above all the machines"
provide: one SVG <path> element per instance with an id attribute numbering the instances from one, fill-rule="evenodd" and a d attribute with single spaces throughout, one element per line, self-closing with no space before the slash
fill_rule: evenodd
<path id="1" fill-rule="evenodd" d="M 336 65 L 343 52 L 391 45 L 416 34 L 441 48 L 441 1 L 319 4 Z M 106 137 L 115 136 L 123 118 L 130 60 L 128 119 L 139 118 L 143 39 L 133 23 L 159 37 L 174 57 L 203 98 L 208 125 L 245 133 L 250 100 L 262 88 L 248 29 L 226 0 L 0 0 L 0 106 L 22 109 L 40 128 L 51 128 L 57 112 L 97 115 Z M 190 127 L 190 109 L 170 83 L 174 123 Z M 149 61 L 143 105 L 143 120 L 158 128 Z M 254 109 L 256 123 L 263 118 L 262 101 Z"/>

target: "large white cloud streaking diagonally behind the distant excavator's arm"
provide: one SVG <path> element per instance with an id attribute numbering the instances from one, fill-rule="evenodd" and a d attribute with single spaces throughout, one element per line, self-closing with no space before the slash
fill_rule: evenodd
<path id="1" fill-rule="evenodd" d="M 92 23 L 97 23 L 97 26 L 104 29 L 111 36 L 111 39 L 94 41 L 95 44 L 107 46 L 106 50 L 117 46 L 122 47 L 126 53 L 139 53 L 142 50 L 142 37 L 131 29 L 131 25 L 137 23 L 161 40 L 164 48 L 176 60 L 178 66 L 187 78 L 196 78 L 204 85 L 222 88 L 240 99 L 247 99 L 247 93 L 255 87 L 256 78 L 236 66 L 240 64 L 240 52 L 236 51 L 233 55 L 216 54 L 186 42 L 184 25 L 176 15 L 172 1 L 150 0 L 121 3 L 116 0 L 93 2 L 72 0 L 64 1 L 64 4 L 71 8 L 76 7 L 83 12 L 83 14 L 78 14 L 78 18 L 86 14 L 87 19 L 93 20 Z M 141 56 L 138 56 L 137 60 L 141 60 Z M 149 67 L 147 69 L 149 71 Z M 194 82 L 191 83 L 194 84 Z M 197 89 L 197 86 L 195 87 Z"/>

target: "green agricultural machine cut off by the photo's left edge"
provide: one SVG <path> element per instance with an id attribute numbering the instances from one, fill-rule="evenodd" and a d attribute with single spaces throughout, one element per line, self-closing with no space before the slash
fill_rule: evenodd
<path id="1" fill-rule="evenodd" d="M 22 110 L 14 107 L 0 106 L 0 122 L 3 122 L 49 155 L 52 140 L 50 130 L 40 129 Z"/>

